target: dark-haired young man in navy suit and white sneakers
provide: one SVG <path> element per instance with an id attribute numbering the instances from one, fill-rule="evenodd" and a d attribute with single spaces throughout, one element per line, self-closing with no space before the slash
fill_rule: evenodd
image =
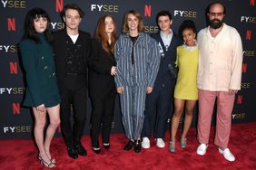
<path id="1" fill-rule="evenodd" d="M 173 88 L 176 78 L 176 47 L 182 42 L 178 35 L 172 32 L 172 15 L 169 11 L 161 11 L 156 15 L 156 23 L 160 28 L 159 33 L 152 37 L 158 42 L 161 51 L 161 64 L 155 80 L 153 92 L 147 94 L 144 123 L 143 123 L 143 148 L 150 147 L 150 137 L 154 131 L 156 146 L 164 147 L 164 134 L 167 119 L 170 118 Z M 154 114 L 156 113 L 156 118 Z M 152 123 L 155 123 L 152 129 Z"/>

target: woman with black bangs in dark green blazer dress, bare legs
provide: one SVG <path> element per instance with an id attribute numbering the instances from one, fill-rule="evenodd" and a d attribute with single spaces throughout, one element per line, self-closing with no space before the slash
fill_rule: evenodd
<path id="1" fill-rule="evenodd" d="M 20 47 L 27 81 L 24 106 L 33 109 L 38 159 L 45 167 L 53 168 L 55 159 L 50 154 L 50 144 L 60 123 L 60 95 L 54 72 L 54 52 L 50 44 L 52 35 L 49 24 L 50 18 L 43 9 L 30 10 L 25 16 L 25 34 Z M 44 138 L 46 112 L 50 124 Z"/>

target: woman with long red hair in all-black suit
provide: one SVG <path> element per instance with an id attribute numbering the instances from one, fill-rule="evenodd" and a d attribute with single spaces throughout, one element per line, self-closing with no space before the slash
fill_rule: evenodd
<path id="1" fill-rule="evenodd" d="M 116 42 L 116 24 L 113 16 L 100 18 L 92 41 L 89 63 L 89 94 L 93 113 L 91 118 L 92 145 L 96 154 L 101 153 L 98 137 L 102 124 L 103 147 L 110 147 L 110 131 L 116 97 L 114 75 L 116 74 L 113 47 Z"/>

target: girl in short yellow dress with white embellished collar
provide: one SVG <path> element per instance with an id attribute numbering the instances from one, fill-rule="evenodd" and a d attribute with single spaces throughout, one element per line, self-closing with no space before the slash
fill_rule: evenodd
<path id="1" fill-rule="evenodd" d="M 198 99 L 197 69 L 198 45 L 195 42 L 196 28 L 191 20 L 185 20 L 180 26 L 179 33 L 184 44 L 177 47 L 177 67 L 179 68 L 174 89 L 174 113 L 172 116 L 172 135 L 169 146 L 170 152 L 175 152 L 175 137 L 180 118 L 185 108 L 185 118 L 181 137 L 182 148 L 186 147 L 187 133 L 192 124 L 193 109 Z"/>

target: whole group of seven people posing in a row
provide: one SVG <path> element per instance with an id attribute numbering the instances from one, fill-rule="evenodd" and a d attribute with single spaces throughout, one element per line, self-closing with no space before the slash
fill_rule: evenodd
<path id="1" fill-rule="evenodd" d="M 169 151 L 175 152 L 183 109 L 180 145 L 185 148 L 193 110 L 199 100 L 201 145 L 196 152 L 203 156 L 217 98 L 215 144 L 227 160 L 235 160 L 228 142 L 234 96 L 241 87 L 242 47 L 239 33 L 223 23 L 222 3 L 208 6 L 209 26 L 198 33 L 198 41 L 191 20 L 185 20 L 179 33 L 174 33 L 168 11 L 156 15 L 160 32 L 152 36 L 143 33 L 142 16 L 134 10 L 124 15 L 123 33 L 119 37 L 113 16 L 104 15 L 98 21 L 93 39 L 89 33 L 79 30 L 84 12 L 78 5 L 65 5 L 61 16 L 64 30 L 51 33 L 49 15 L 41 8 L 30 10 L 20 43 L 28 86 L 24 105 L 33 109 L 34 138 L 42 165 L 49 168 L 56 165 L 50 143 L 59 124 L 68 156 L 76 159 L 87 155 L 81 143 L 87 89 L 93 109 L 91 142 L 95 154 L 101 153 L 101 130 L 102 146 L 105 149 L 111 146 L 110 132 L 118 93 L 128 138 L 124 150 L 133 148 L 139 153 L 142 147 L 150 148 L 152 132 L 156 146 L 164 147 L 173 101 Z M 73 122 L 71 109 L 74 109 Z M 50 121 L 44 137 L 46 112 Z"/>

